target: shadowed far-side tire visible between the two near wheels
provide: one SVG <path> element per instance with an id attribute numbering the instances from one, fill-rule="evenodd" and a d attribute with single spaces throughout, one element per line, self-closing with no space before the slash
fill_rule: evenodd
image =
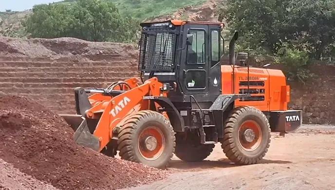
<path id="1" fill-rule="evenodd" d="M 215 146 L 200 144 L 200 139 L 195 143 L 191 140 L 184 140 L 182 136 L 177 136 L 175 150 L 176 156 L 186 162 L 200 162 L 213 152 Z"/>

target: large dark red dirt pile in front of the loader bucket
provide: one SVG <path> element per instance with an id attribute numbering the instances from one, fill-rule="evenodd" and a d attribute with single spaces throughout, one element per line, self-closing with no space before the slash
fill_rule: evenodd
<path id="1" fill-rule="evenodd" d="M 81 147 L 57 114 L 19 96 L 0 97 L 0 158 L 62 190 L 119 189 L 166 172 Z"/>

